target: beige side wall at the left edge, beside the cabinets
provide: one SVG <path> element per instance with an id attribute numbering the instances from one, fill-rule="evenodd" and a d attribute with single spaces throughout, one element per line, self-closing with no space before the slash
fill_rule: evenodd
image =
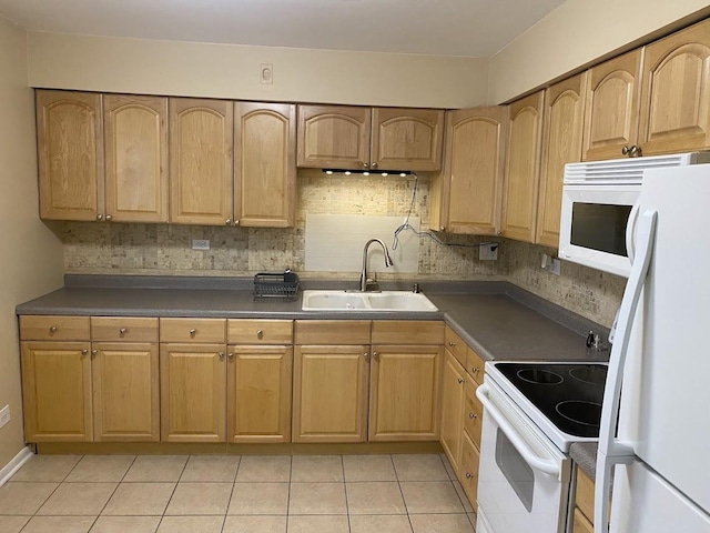
<path id="1" fill-rule="evenodd" d="M 34 97 L 26 32 L 0 17 L 0 467 L 23 446 L 14 306 L 62 284 L 62 245 L 38 218 Z"/>

